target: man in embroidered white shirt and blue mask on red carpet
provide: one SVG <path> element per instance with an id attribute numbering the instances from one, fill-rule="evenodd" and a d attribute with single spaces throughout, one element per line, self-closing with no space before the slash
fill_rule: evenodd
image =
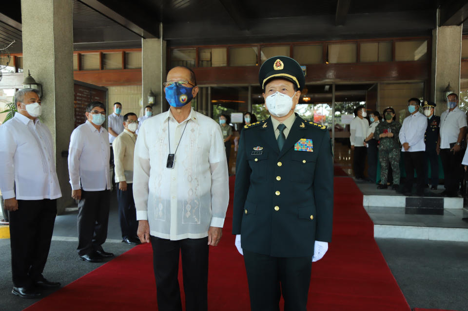
<path id="1" fill-rule="evenodd" d="M 228 167 L 218 124 L 192 109 L 195 74 L 167 74 L 170 110 L 140 128 L 133 193 L 138 237 L 153 247 L 159 310 L 181 311 L 177 282 L 182 254 L 187 310 L 207 310 L 209 245 L 216 246 L 229 200 Z"/>

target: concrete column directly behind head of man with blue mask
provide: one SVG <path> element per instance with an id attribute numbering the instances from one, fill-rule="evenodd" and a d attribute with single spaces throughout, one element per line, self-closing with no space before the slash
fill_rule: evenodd
<path id="1" fill-rule="evenodd" d="M 141 39 L 143 107 L 148 105 L 148 93 L 150 89 L 153 90 L 156 94 L 153 114 L 168 109 L 162 86 L 166 81 L 166 41 L 162 39 L 162 23 L 159 29 L 161 34 L 159 39 Z"/>

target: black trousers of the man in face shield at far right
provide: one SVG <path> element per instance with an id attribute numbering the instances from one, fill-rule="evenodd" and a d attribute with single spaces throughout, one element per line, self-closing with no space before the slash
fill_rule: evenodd
<path id="1" fill-rule="evenodd" d="M 444 168 L 444 186 L 452 194 L 456 194 L 462 180 L 462 160 L 465 152 L 460 150 L 453 154 L 450 149 L 440 149 L 440 160 Z"/>

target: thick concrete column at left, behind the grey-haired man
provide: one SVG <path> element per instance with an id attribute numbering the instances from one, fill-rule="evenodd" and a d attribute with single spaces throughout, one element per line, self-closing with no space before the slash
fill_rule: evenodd
<path id="1" fill-rule="evenodd" d="M 73 1 L 21 0 L 24 73 L 42 84 L 42 121 L 54 139 L 62 198 L 59 214 L 73 201 L 68 150 L 74 128 Z"/>

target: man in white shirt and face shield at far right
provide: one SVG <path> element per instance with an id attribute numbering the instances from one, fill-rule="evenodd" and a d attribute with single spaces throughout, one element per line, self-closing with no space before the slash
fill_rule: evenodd
<path id="1" fill-rule="evenodd" d="M 467 130 L 467 117 L 458 108 L 458 95 L 447 96 L 447 110 L 440 116 L 439 140 L 437 150 L 444 168 L 444 187 L 442 195 L 457 197 L 462 178 L 461 143 Z"/>

